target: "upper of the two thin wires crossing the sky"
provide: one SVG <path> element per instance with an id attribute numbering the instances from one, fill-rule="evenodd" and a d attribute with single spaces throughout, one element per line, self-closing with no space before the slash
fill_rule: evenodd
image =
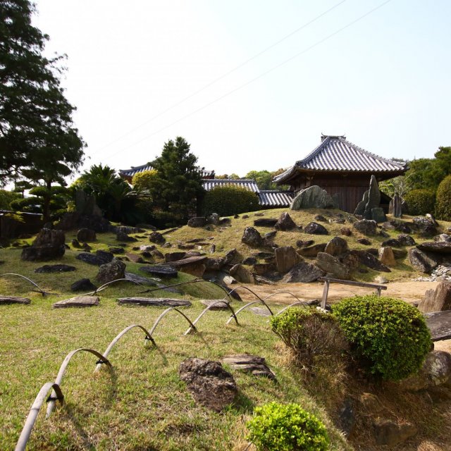
<path id="1" fill-rule="evenodd" d="M 266 51 L 273 49 L 273 47 L 276 47 L 278 44 L 280 44 L 281 42 L 285 41 L 285 39 L 288 39 L 289 37 L 292 37 L 292 35 L 295 35 L 297 32 L 304 30 L 304 28 L 308 27 L 309 25 L 311 25 L 312 23 L 316 22 L 316 20 L 319 20 L 321 17 L 326 16 L 326 14 L 330 13 L 330 11 L 333 11 L 333 9 L 337 8 L 338 6 L 340 6 L 341 4 L 345 3 L 346 0 L 341 0 L 338 2 L 338 4 L 335 4 L 334 6 L 332 6 L 331 8 L 329 8 L 327 11 L 324 11 L 323 13 L 321 13 L 319 16 L 316 16 L 315 18 L 311 19 L 309 22 L 304 23 L 304 25 L 301 25 L 299 28 L 297 28 L 296 30 L 293 30 L 292 32 L 290 32 L 288 35 L 284 36 L 283 38 L 279 39 L 277 42 L 274 42 L 274 44 L 271 44 L 269 47 L 266 47 L 266 49 L 263 49 L 261 51 L 259 51 L 258 54 L 255 54 L 254 56 L 251 56 L 251 58 L 247 59 L 246 61 L 244 61 L 243 63 L 240 63 L 238 66 L 235 66 L 235 68 L 230 69 L 228 72 L 224 73 L 223 75 L 221 75 L 220 77 L 216 78 L 215 80 L 209 82 L 208 84 L 206 84 L 204 87 L 198 89 L 197 91 L 193 92 L 192 94 L 188 95 L 187 97 L 184 97 L 183 99 L 181 99 L 180 101 L 176 102 L 175 104 L 172 104 L 171 106 L 169 106 L 166 110 L 161 111 L 160 113 L 157 113 L 155 116 L 153 116 L 152 118 L 148 119 L 147 121 L 141 123 L 140 125 L 137 125 L 135 128 L 132 128 L 131 130 L 129 130 L 128 132 L 125 132 L 123 135 L 118 136 L 117 138 L 115 138 L 114 140 L 108 142 L 107 144 L 104 144 L 104 146 L 99 148 L 99 151 L 105 149 L 106 147 L 111 146 L 111 144 L 114 144 L 115 142 L 118 142 L 119 140 L 122 140 L 123 137 L 126 137 L 128 135 L 130 135 L 130 133 L 135 132 L 136 130 L 139 130 L 140 128 L 142 128 L 144 125 L 147 125 L 149 123 L 151 123 L 152 121 L 154 121 L 156 118 L 159 118 L 160 116 L 163 116 L 163 114 L 168 113 L 168 111 L 173 110 L 176 106 L 179 106 L 183 103 L 185 103 L 185 101 L 191 99 L 192 97 L 196 96 L 197 94 L 199 94 L 200 92 L 203 92 L 205 89 L 209 88 L 212 85 L 215 85 L 218 81 L 223 80 L 223 78 L 228 77 L 228 75 L 230 75 L 231 73 L 234 73 L 236 70 L 242 68 L 243 66 L 246 66 L 247 63 L 250 63 L 251 61 L 253 61 L 255 58 L 258 58 L 260 55 L 266 53 Z"/>

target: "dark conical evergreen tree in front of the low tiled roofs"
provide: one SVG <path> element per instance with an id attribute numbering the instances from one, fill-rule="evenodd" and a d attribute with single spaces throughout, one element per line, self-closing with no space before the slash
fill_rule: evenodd
<path id="1" fill-rule="evenodd" d="M 189 214 L 199 213 L 204 195 L 202 170 L 197 166 L 197 156 L 190 152 L 190 144 L 183 137 L 169 140 L 151 164 L 156 170 L 149 187 L 154 205 L 181 214 L 183 221 Z"/>

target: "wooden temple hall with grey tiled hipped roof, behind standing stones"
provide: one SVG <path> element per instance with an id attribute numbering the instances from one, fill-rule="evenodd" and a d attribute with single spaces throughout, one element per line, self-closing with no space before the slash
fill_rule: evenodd
<path id="1" fill-rule="evenodd" d="M 341 210 L 353 213 L 369 188 L 371 175 L 381 182 L 405 171 L 406 163 L 371 154 L 347 141 L 345 136 L 321 135 L 321 144 L 278 175 L 274 182 L 290 185 L 294 195 L 304 188 L 319 185 L 337 199 Z M 385 197 L 383 195 L 382 199 Z"/>

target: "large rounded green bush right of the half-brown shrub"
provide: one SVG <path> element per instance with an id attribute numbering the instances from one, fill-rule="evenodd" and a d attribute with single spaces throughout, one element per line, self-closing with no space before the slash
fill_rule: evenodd
<path id="1" fill-rule="evenodd" d="M 366 371 L 399 381 L 417 371 L 431 350 L 421 313 L 406 302 L 376 295 L 343 299 L 333 312 Z"/>

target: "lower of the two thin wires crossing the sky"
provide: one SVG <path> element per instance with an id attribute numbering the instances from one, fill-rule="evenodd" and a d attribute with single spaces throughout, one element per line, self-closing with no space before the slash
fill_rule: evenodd
<path id="1" fill-rule="evenodd" d="M 276 66 L 273 66 L 271 69 L 266 70 L 266 72 L 261 73 L 260 75 L 257 75 L 257 77 L 252 78 L 252 80 L 249 80 L 248 82 L 245 82 L 243 85 L 240 85 L 238 87 L 236 87 L 235 89 L 232 89 L 229 92 L 226 92 L 226 94 L 223 94 L 220 97 L 217 97 L 216 99 L 209 101 L 207 104 L 204 104 L 203 106 L 199 107 L 198 109 L 191 111 L 191 113 L 186 114 L 185 116 L 179 118 L 177 121 L 174 121 L 172 123 L 170 123 L 169 125 L 165 125 L 164 127 L 160 128 L 159 130 L 156 130 L 155 132 L 150 133 L 149 135 L 146 135 L 144 137 L 142 137 L 140 140 L 137 140 L 135 142 L 133 142 L 132 144 L 128 145 L 127 147 L 124 147 L 123 149 L 118 150 L 118 152 L 115 152 L 114 154 L 111 154 L 110 156 L 115 156 L 121 152 L 124 152 L 125 150 L 130 149 L 131 147 L 135 147 L 137 144 L 140 144 L 141 142 L 147 140 L 149 137 L 152 137 L 154 135 L 157 135 L 159 132 L 162 132 L 163 130 L 166 130 L 167 128 L 172 127 L 173 125 L 184 121 L 186 118 L 189 118 L 190 116 L 193 116 L 196 113 L 199 113 L 199 111 L 202 111 L 206 108 L 208 108 L 209 106 L 215 104 L 217 101 L 220 101 L 228 96 L 230 96 L 231 94 L 234 94 L 235 92 L 239 91 L 240 89 L 247 87 L 248 85 L 250 85 L 251 83 L 259 80 L 260 78 L 263 78 L 265 75 L 268 75 L 269 73 L 273 72 L 274 70 L 285 66 L 285 64 L 290 63 L 290 61 L 292 61 L 293 59 L 306 54 L 307 51 L 310 51 L 311 49 L 314 49 L 315 47 L 318 47 L 320 44 L 323 44 L 323 42 L 326 42 L 328 39 L 330 39 L 331 37 L 334 37 L 335 35 L 338 35 L 338 33 L 346 30 L 347 28 L 351 27 L 352 25 L 354 25 L 355 23 L 359 22 L 360 20 L 366 18 L 366 16 L 369 16 L 371 13 L 373 13 L 374 11 L 377 11 L 379 8 L 382 8 L 383 6 L 385 6 L 386 4 L 390 3 L 391 0 L 386 0 L 383 3 L 379 4 L 378 6 L 376 6 L 376 8 L 371 9 L 370 11 L 368 11 L 367 13 L 364 13 L 362 16 L 359 16 L 357 19 L 352 20 L 352 22 L 347 23 L 347 25 L 345 25 L 344 27 L 339 28 L 338 30 L 336 30 L 333 33 L 330 33 L 330 35 L 324 37 L 323 39 L 320 39 L 319 41 L 315 42 L 314 44 L 312 44 L 311 46 L 307 47 L 307 49 L 304 49 L 302 51 L 300 51 L 299 53 L 291 56 L 290 58 L 286 59 L 285 61 L 283 61 L 282 63 L 279 63 Z"/>

